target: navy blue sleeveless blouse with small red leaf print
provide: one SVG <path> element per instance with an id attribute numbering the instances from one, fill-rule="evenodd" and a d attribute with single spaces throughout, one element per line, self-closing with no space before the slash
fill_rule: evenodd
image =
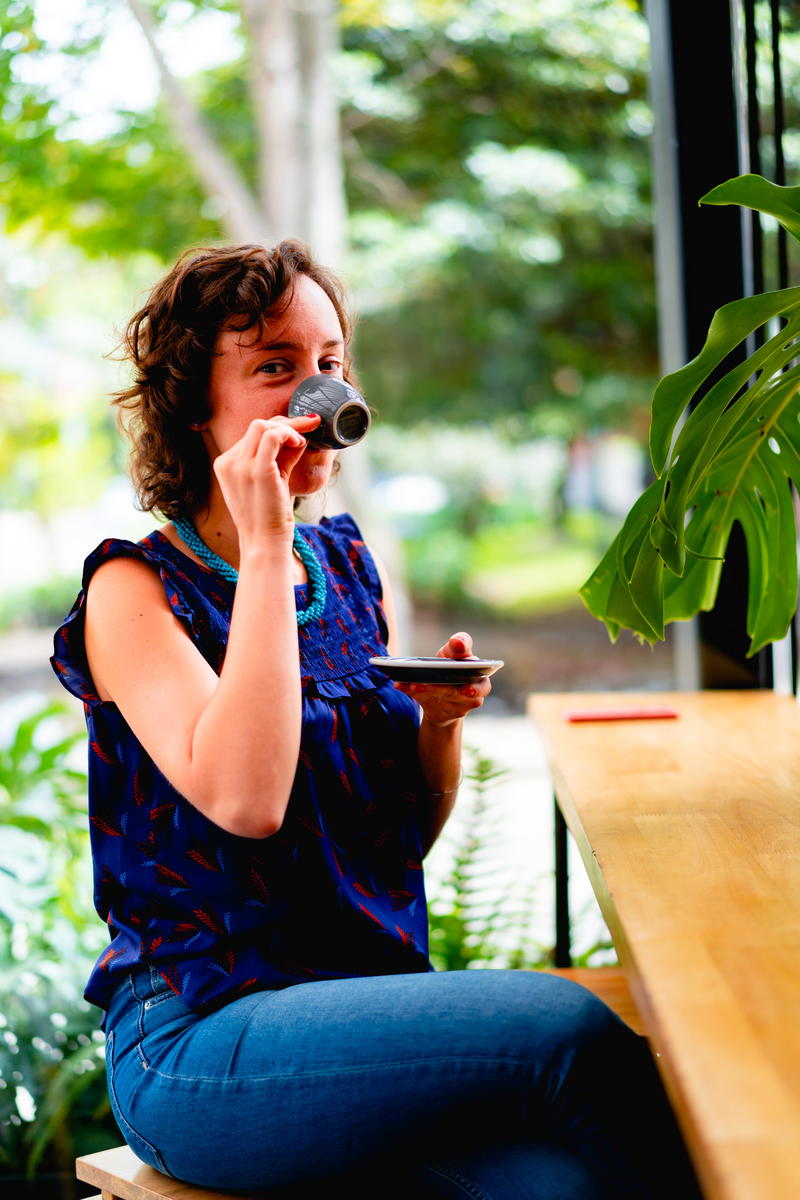
<path id="1" fill-rule="evenodd" d="M 116 706 L 98 697 L 84 648 L 89 581 L 127 556 L 158 571 L 175 617 L 218 672 L 235 584 L 160 532 L 107 540 L 86 559 L 83 590 L 55 634 L 53 667 L 84 702 L 89 730 L 95 905 L 110 944 L 85 995 L 101 1008 L 140 962 L 198 1012 L 313 979 L 432 970 L 419 709 L 368 664 L 386 653 L 378 572 L 351 517 L 300 528 L 325 569 L 327 601 L 299 629 L 300 758 L 271 838 L 227 833 L 168 782 Z M 306 586 L 295 593 L 306 607 Z"/>

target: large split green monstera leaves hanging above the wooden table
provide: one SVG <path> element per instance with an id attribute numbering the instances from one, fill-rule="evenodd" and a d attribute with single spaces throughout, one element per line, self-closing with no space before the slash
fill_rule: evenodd
<path id="1" fill-rule="evenodd" d="M 800 187 L 741 175 L 700 203 L 769 212 L 800 239 Z M 581 588 L 612 641 L 630 629 L 652 643 L 669 622 L 711 608 L 734 521 L 747 546 L 748 653 L 787 632 L 798 604 L 790 484 L 800 485 L 799 340 L 800 288 L 734 300 L 714 314 L 697 358 L 656 388 L 656 480 Z M 745 360 L 739 353 L 720 376 L 742 344 Z"/>

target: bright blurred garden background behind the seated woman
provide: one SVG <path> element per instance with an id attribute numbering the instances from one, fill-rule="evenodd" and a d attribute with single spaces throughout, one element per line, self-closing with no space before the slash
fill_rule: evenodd
<path id="1" fill-rule="evenodd" d="M 109 408 L 120 332 L 193 245 L 297 234 L 345 280 L 375 419 L 329 510 L 391 564 L 404 650 L 469 629 L 506 661 L 432 856 L 434 948 L 545 961 L 551 803 L 525 696 L 674 678 L 669 642 L 612 647 L 577 594 L 648 473 L 648 29 L 632 0 L 0 14 L 0 1177 L 66 1198 L 72 1151 L 119 1136 L 79 998 L 103 941 L 80 713 L 47 659 L 84 557 L 155 524 Z M 792 38 L 784 59 L 796 73 Z M 471 836 L 465 874 L 485 874 L 463 905 Z M 588 955 L 604 931 L 576 886 Z"/>

